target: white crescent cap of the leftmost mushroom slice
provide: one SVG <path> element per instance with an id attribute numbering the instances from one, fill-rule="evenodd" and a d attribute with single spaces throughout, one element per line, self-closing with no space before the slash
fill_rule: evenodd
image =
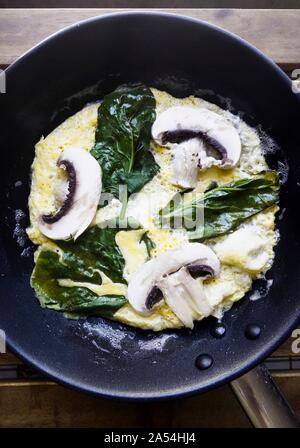
<path id="1" fill-rule="evenodd" d="M 53 240 L 81 235 L 97 211 L 102 188 L 102 172 L 96 159 L 81 148 L 63 151 L 57 166 L 68 173 L 67 192 L 61 208 L 54 215 L 42 215 L 40 231 Z"/>

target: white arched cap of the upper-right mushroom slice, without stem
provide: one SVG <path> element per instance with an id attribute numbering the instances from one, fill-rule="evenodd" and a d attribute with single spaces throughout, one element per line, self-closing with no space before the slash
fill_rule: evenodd
<path id="1" fill-rule="evenodd" d="M 170 107 L 156 118 L 152 126 L 152 138 L 161 146 L 172 147 L 172 143 L 168 141 L 168 134 L 174 132 L 181 138 L 181 142 L 197 137 L 198 134 L 199 140 L 202 138 L 206 143 L 215 146 L 221 152 L 222 158 L 214 160 L 210 157 L 210 166 L 217 165 L 227 169 L 239 161 L 241 154 L 239 134 L 226 118 L 215 112 L 200 107 Z"/>

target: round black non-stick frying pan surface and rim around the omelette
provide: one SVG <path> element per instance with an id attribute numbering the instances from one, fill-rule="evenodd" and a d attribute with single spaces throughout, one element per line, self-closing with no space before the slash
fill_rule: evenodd
<path id="1" fill-rule="evenodd" d="M 87 102 L 130 81 L 175 96 L 201 95 L 242 112 L 281 148 L 269 160 L 272 168 L 289 166 L 281 189 L 284 213 L 277 222 L 280 241 L 267 274 L 273 285 L 263 299 L 251 301 L 248 294 L 225 313 L 222 338 L 215 337 L 214 319 L 197 323 L 193 331 L 160 334 L 99 318 L 67 320 L 40 308 L 30 288 L 33 247 L 24 229 L 34 144 Z M 162 399 L 233 380 L 290 334 L 300 316 L 300 102 L 272 61 L 208 23 L 126 12 L 81 22 L 46 39 L 6 70 L 6 90 L 0 96 L 0 328 L 11 350 L 81 391 Z M 254 290 L 261 287 L 262 281 L 254 284 Z M 249 325 L 260 329 L 259 337 L 249 337 Z"/>

